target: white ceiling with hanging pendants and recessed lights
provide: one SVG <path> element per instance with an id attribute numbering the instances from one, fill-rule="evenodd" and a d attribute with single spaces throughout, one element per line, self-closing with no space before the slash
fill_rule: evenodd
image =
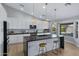
<path id="1" fill-rule="evenodd" d="M 20 6 L 20 4 L 24 5 L 24 7 Z M 6 5 L 21 10 L 30 15 L 33 15 L 34 6 L 34 16 L 41 19 L 65 19 L 79 15 L 79 3 L 72 3 L 69 6 L 65 6 L 64 4 L 65 3 L 48 3 L 46 7 L 46 13 L 46 8 L 43 8 L 45 3 L 6 3 Z M 56 9 L 56 16 L 54 9 Z"/>

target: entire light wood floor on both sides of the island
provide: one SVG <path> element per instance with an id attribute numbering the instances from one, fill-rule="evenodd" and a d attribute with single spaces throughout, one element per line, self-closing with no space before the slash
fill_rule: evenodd
<path id="1" fill-rule="evenodd" d="M 9 56 L 23 56 L 23 47 L 22 43 L 14 44 L 9 46 L 8 55 Z M 79 48 L 73 44 L 65 42 L 64 49 L 58 49 L 58 54 L 54 54 L 56 51 L 49 51 L 46 56 L 79 56 Z"/>

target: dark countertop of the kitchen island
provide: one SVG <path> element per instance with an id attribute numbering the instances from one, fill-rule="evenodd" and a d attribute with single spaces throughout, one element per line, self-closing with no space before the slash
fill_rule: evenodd
<path id="1" fill-rule="evenodd" d="M 31 39 L 31 37 L 27 37 L 27 36 L 24 36 L 24 39 L 27 41 L 27 42 L 31 42 L 31 41 L 38 41 L 38 40 L 49 40 L 49 39 L 55 39 L 55 38 L 58 38 L 59 37 L 57 35 L 50 35 L 49 33 L 47 33 L 48 35 L 44 35 L 44 34 L 40 34 L 40 35 L 37 35 L 35 39 Z M 27 39 L 28 38 L 28 39 Z"/>

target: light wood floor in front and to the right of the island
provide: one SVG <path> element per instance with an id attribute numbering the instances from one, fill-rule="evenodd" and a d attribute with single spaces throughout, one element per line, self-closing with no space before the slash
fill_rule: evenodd
<path id="1" fill-rule="evenodd" d="M 73 44 L 65 42 L 64 50 L 61 49 L 58 54 L 52 53 L 52 51 L 47 53 L 47 56 L 79 56 L 79 48 Z"/>

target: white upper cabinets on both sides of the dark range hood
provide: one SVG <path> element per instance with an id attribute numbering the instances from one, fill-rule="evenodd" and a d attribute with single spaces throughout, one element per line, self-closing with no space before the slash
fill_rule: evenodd
<path id="1" fill-rule="evenodd" d="M 32 25 L 32 17 L 25 18 L 8 18 L 9 29 L 29 29 L 29 25 Z M 48 29 L 48 23 L 40 20 L 36 20 L 35 25 L 37 29 Z"/>

